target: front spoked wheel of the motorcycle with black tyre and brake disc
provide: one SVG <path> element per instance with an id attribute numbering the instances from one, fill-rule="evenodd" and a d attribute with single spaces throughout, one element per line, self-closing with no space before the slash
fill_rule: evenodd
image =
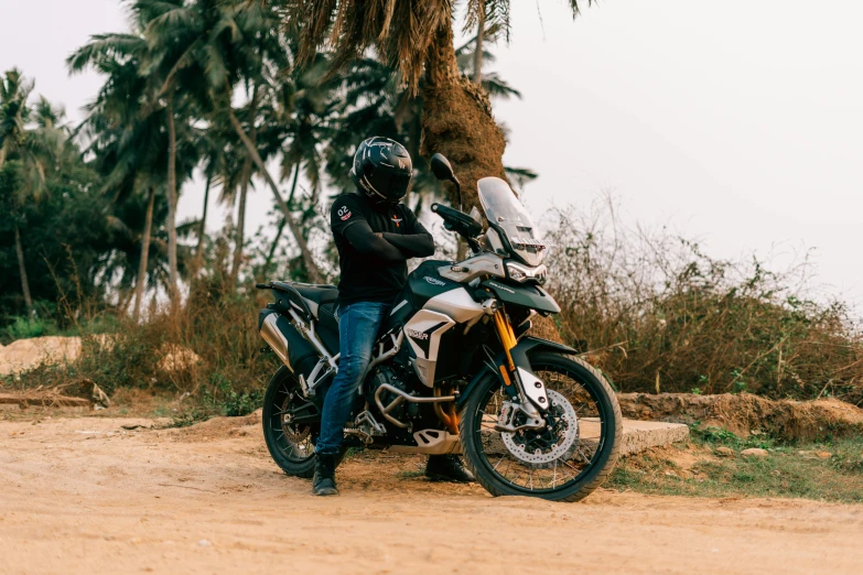
<path id="1" fill-rule="evenodd" d="M 500 431 L 501 422 L 517 428 L 530 421 L 490 379 L 474 391 L 462 419 L 467 464 L 494 496 L 578 501 L 614 469 L 623 437 L 621 408 L 611 386 L 584 361 L 538 352 L 530 362 L 548 392 L 546 425 Z"/>

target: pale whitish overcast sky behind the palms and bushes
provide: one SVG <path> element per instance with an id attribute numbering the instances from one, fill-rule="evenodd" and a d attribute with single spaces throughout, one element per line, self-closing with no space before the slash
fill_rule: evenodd
<path id="1" fill-rule="evenodd" d="M 611 193 L 626 218 L 715 257 L 811 250 L 819 290 L 863 303 L 863 2 L 585 1 L 574 21 L 563 0 L 511 4 L 490 69 L 524 98 L 494 108 L 505 163 L 540 174 L 524 196 L 536 216 Z M 0 70 L 20 67 L 79 120 L 100 79 L 64 61 L 125 29 L 118 1 L 0 0 Z M 185 188 L 180 217 L 202 199 Z M 247 229 L 270 205 L 259 186 Z"/>

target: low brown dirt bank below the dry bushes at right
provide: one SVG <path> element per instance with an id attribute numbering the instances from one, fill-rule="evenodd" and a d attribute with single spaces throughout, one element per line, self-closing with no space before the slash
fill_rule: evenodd
<path id="1" fill-rule="evenodd" d="M 842 401 L 768 400 L 751 393 L 619 393 L 625 417 L 722 427 L 742 436 L 827 440 L 863 434 L 863 410 Z"/>

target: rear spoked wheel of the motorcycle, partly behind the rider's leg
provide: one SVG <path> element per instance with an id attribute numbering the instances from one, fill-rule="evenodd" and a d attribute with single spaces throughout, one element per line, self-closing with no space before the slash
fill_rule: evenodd
<path id="1" fill-rule="evenodd" d="M 320 419 L 315 423 L 293 422 L 298 410 L 308 405 L 291 371 L 287 367 L 280 368 L 263 397 L 263 438 L 277 465 L 295 477 L 314 475 L 314 444 L 321 431 Z"/>

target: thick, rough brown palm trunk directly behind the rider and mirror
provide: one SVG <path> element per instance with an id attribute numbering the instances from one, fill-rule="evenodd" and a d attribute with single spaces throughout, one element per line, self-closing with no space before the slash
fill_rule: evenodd
<path id="1" fill-rule="evenodd" d="M 506 140 L 492 116 L 488 95 L 459 73 L 453 47 L 452 19 L 438 29 L 429 47 L 423 89 L 422 145 L 424 156 L 445 155 L 462 182 L 464 209 L 476 206 L 476 182 L 486 176 L 506 180 Z M 455 186 L 445 184 L 453 205 Z"/>

